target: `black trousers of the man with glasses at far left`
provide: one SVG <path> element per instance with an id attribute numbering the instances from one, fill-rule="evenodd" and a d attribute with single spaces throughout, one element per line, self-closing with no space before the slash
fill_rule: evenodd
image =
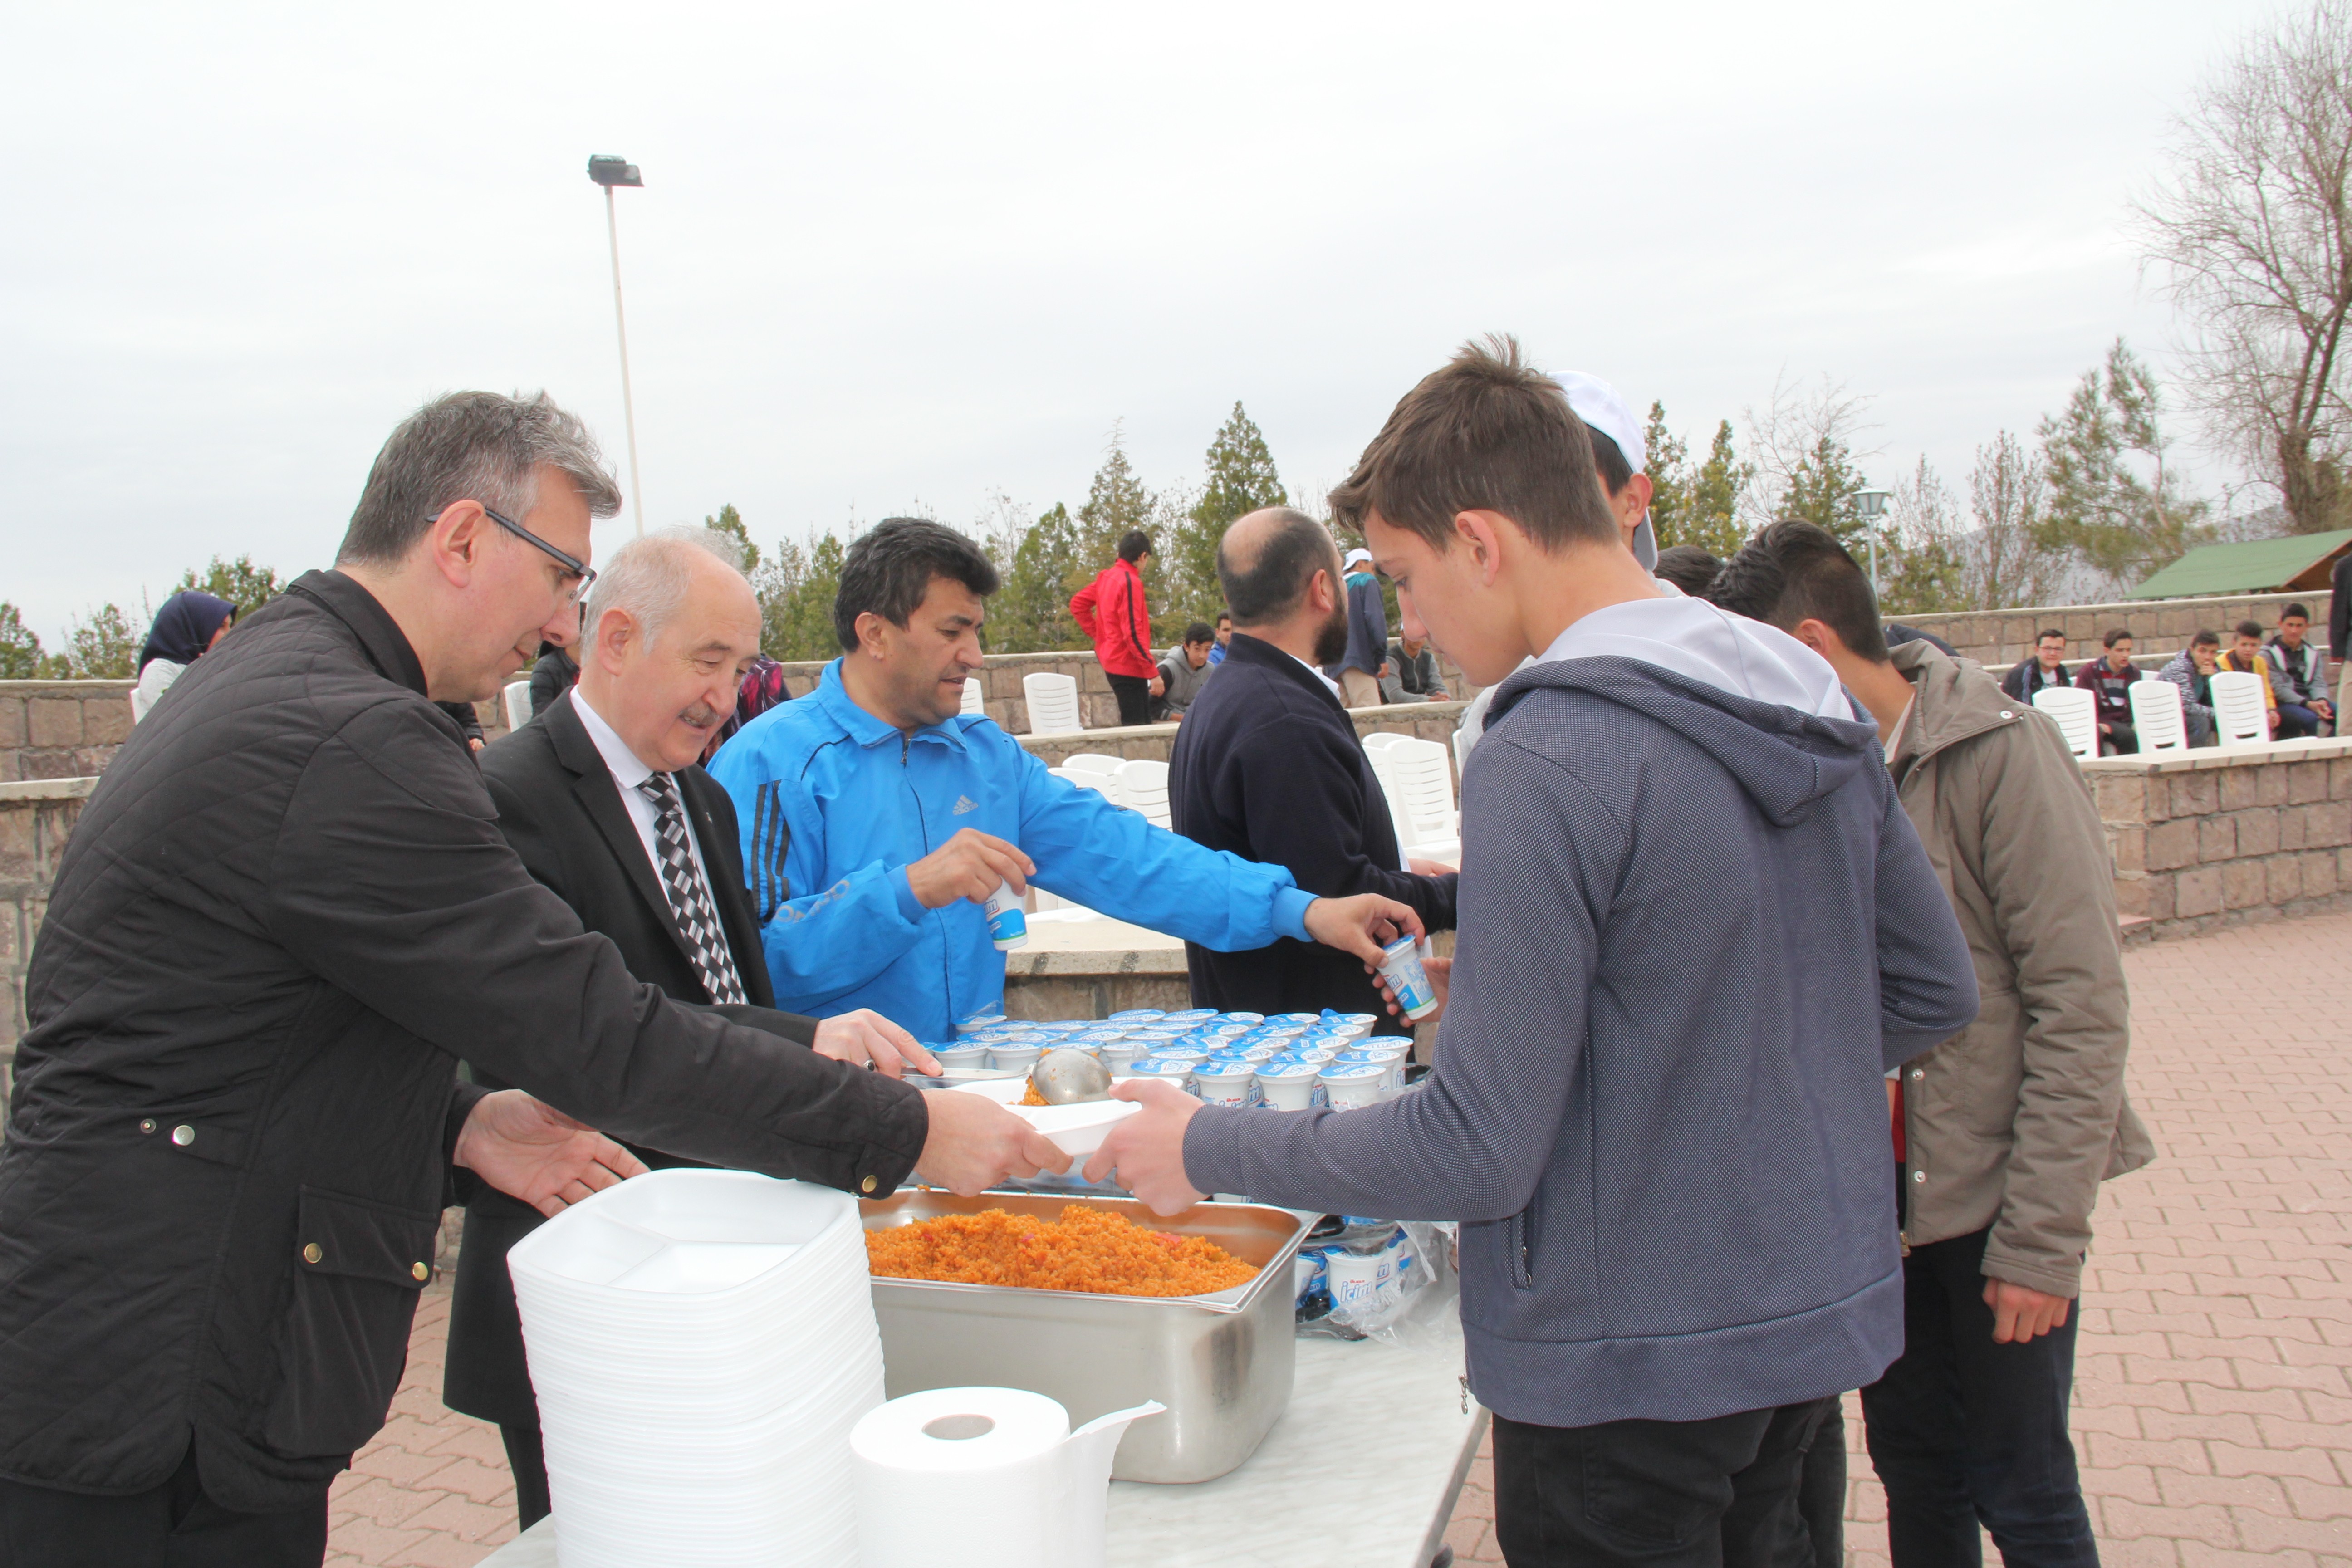
<path id="1" fill-rule="evenodd" d="M 235 1514 L 205 1495 L 195 1446 L 172 1479 L 129 1497 L 0 1481 L 5 1568 L 318 1568 L 327 1488 L 287 1514 Z"/>

